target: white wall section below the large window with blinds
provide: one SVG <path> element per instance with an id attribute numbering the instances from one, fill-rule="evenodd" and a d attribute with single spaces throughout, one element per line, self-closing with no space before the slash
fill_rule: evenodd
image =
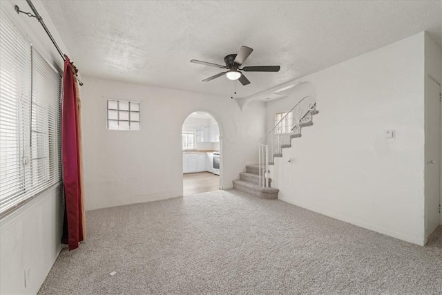
<path id="1" fill-rule="evenodd" d="M 53 187 L 1 220 L 0 294 L 37 294 L 61 250 L 62 204 Z"/>

